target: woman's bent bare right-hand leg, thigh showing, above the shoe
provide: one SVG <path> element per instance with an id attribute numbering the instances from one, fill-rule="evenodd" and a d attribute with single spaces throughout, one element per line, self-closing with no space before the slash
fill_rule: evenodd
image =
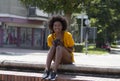
<path id="1" fill-rule="evenodd" d="M 63 46 L 57 46 L 55 52 L 55 61 L 53 70 L 57 72 L 57 68 L 60 63 L 69 64 L 72 63 L 71 54 Z"/>

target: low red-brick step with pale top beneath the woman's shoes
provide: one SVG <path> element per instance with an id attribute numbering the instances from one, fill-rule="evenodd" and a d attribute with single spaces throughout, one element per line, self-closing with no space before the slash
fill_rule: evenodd
<path id="1" fill-rule="evenodd" d="M 42 80 L 42 73 L 0 70 L 0 81 L 47 81 Z M 55 81 L 92 81 L 72 75 L 58 75 Z"/>

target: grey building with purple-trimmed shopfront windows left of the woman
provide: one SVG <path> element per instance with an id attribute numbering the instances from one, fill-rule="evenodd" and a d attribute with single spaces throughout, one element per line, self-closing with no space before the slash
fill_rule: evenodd
<path id="1" fill-rule="evenodd" d="M 46 48 L 48 14 L 19 0 L 0 0 L 0 47 Z"/>

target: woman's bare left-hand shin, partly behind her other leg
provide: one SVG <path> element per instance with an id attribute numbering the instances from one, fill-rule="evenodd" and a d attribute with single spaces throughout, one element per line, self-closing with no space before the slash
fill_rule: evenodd
<path id="1" fill-rule="evenodd" d="M 55 47 L 51 47 L 48 51 L 48 55 L 47 55 L 47 60 L 46 60 L 46 70 L 49 70 L 50 69 L 50 66 L 51 66 L 51 62 L 54 58 L 54 55 L 55 55 Z"/>

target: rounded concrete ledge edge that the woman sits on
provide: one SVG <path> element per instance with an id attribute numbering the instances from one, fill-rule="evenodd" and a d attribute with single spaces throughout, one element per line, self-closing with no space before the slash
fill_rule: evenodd
<path id="1" fill-rule="evenodd" d="M 31 63 L 24 61 L 9 61 L 4 60 L 0 62 L 1 67 L 15 67 L 15 68 L 31 68 L 31 69 L 44 69 L 45 63 Z M 74 71 L 74 72 L 91 72 L 91 73 L 107 73 L 107 74 L 120 74 L 120 68 L 88 66 L 78 64 L 60 65 L 60 70 Z"/>

